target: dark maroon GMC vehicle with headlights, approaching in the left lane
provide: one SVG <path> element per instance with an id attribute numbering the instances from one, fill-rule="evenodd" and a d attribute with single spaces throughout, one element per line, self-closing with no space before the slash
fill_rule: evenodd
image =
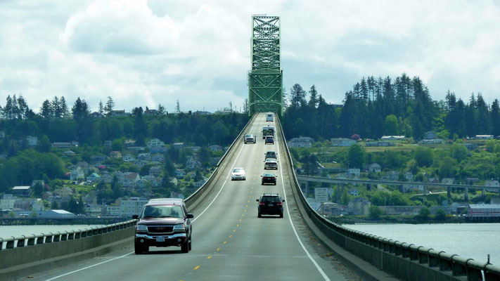
<path id="1" fill-rule="evenodd" d="M 183 253 L 191 250 L 191 218 L 186 204 L 179 199 L 150 200 L 144 205 L 136 225 L 134 248 L 136 254 L 149 251 L 155 247 L 181 247 Z"/>

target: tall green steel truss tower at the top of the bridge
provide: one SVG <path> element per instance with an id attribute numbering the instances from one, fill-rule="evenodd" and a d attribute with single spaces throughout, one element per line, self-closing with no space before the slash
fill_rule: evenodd
<path id="1" fill-rule="evenodd" d="M 283 114 L 280 20 L 276 16 L 252 16 L 252 70 L 248 72 L 248 114 Z"/>

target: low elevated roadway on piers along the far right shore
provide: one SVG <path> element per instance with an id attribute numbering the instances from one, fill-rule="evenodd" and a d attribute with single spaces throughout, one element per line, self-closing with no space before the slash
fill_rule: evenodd
<path id="1" fill-rule="evenodd" d="M 427 188 L 429 187 L 440 187 L 447 188 L 448 197 L 451 195 L 451 188 L 463 189 L 463 196 L 465 200 L 468 200 L 468 190 L 481 190 L 482 196 L 485 196 L 485 190 L 494 190 L 500 193 L 500 188 L 484 186 L 484 185 L 462 185 L 462 184 L 454 184 L 454 183 L 424 183 L 421 181 L 382 181 L 382 180 L 361 180 L 354 178 L 326 178 L 321 176 L 297 176 L 297 181 L 305 185 L 306 190 L 309 189 L 309 183 L 331 183 L 331 184 L 339 184 L 345 185 L 347 183 L 350 184 L 361 184 L 361 185 L 397 185 L 402 187 L 403 185 L 421 185 L 424 188 L 424 194 Z"/>

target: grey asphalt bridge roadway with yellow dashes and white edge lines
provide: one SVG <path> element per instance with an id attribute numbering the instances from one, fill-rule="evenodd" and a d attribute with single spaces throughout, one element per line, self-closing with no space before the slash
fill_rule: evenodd
<path id="1" fill-rule="evenodd" d="M 326 255 L 298 216 L 285 147 L 276 133 L 275 145 L 264 145 L 259 114 L 248 125 L 256 144 L 237 142 L 232 157 L 220 166 L 207 200 L 196 209 L 193 249 L 150 247 L 149 254 L 133 254 L 132 247 L 30 277 L 32 280 L 359 280 Z M 269 122 L 267 123 L 269 124 Z M 277 128 L 278 126 L 276 126 Z M 277 128 L 278 129 L 278 128 Z M 278 152 L 277 185 L 261 185 L 264 152 Z M 231 181 L 232 167 L 244 167 L 246 181 Z M 256 199 L 278 192 L 286 199 L 284 218 L 257 218 Z M 284 196 L 283 196 L 284 195 Z M 292 215 L 290 217 L 290 215 Z"/>

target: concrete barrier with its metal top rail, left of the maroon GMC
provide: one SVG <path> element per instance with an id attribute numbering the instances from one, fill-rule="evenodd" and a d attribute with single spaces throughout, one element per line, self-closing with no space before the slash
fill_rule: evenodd
<path id="1" fill-rule="evenodd" d="M 136 220 L 63 233 L 0 238 L 0 280 L 66 266 L 120 249 L 132 242 Z"/>

